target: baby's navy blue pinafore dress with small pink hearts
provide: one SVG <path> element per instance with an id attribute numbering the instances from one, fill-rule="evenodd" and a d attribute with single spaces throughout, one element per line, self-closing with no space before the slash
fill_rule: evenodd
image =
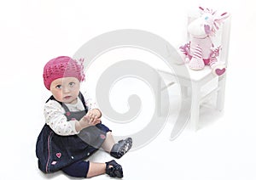
<path id="1" fill-rule="evenodd" d="M 86 115 L 88 109 L 82 93 L 79 93 L 79 98 L 84 104 L 84 110 L 82 111 L 69 111 L 67 105 L 59 102 L 66 111 L 67 121 L 73 119 L 79 121 Z M 49 99 L 55 100 L 53 96 Z M 79 134 L 61 136 L 45 124 L 38 135 L 36 144 L 39 169 L 44 173 L 56 172 L 78 160 L 85 160 L 97 149 L 100 149 L 106 138 L 106 132 L 109 131 L 108 127 L 99 123 L 96 126 L 84 128 Z"/>

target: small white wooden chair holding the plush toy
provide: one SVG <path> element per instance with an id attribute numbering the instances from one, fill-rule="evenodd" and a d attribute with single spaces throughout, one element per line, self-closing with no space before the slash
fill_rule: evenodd
<path id="1" fill-rule="evenodd" d="M 224 62 L 225 65 L 228 63 L 228 53 L 229 53 L 229 42 L 230 42 L 230 17 L 224 21 L 224 24 L 220 28 L 218 34 L 216 35 L 216 41 L 222 46 L 222 50 L 220 52 L 220 60 Z M 226 74 L 229 69 L 227 68 L 226 72 L 223 76 L 214 76 L 212 74 L 212 69 L 209 66 L 206 66 L 203 70 L 190 70 L 188 64 L 183 64 L 187 66 L 187 70 L 189 71 L 189 76 L 184 75 L 182 72 L 173 72 L 172 70 L 158 69 L 160 76 L 165 79 L 165 81 L 170 82 L 169 85 L 177 82 L 180 85 L 180 89 L 183 94 L 183 98 L 190 98 L 191 106 L 189 119 L 192 128 L 195 130 L 198 129 L 198 122 L 200 117 L 200 107 L 201 104 L 206 100 L 211 99 L 211 95 L 213 93 L 217 93 L 216 98 L 216 109 L 223 110 L 224 109 L 224 93 L 225 93 L 225 82 L 226 82 Z M 180 66 L 183 66 L 180 65 Z M 177 81 L 178 80 L 178 81 Z M 215 82 L 217 85 L 212 86 L 212 88 L 207 89 L 207 85 Z M 213 83 L 214 84 L 214 83 Z M 161 85 L 162 86 L 162 85 Z M 161 87 L 163 90 L 165 87 Z M 172 87 L 172 86 L 169 86 Z M 207 87 L 207 88 L 206 88 Z M 210 86 L 211 87 L 211 86 Z M 207 89 L 207 92 L 202 92 Z M 161 94 L 161 93 L 159 93 Z M 161 113 L 161 103 L 158 104 L 159 110 Z M 160 114 L 159 113 L 159 114 Z"/>

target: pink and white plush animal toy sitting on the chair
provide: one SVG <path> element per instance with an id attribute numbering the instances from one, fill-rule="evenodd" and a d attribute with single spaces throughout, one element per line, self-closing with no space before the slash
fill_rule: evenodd
<path id="1" fill-rule="evenodd" d="M 201 70 L 205 65 L 209 65 L 213 74 L 222 76 L 226 67 L 218 61 L 221 47 L 214 47 L 212 37 L 229 14 L 225 12 L 218 15 L 209 8 L 199 9 L 201 16 L 188 25 L 190 41 L 180 49 L 185 54 L 185 62 L 189 63 L 190 69 Z"/>

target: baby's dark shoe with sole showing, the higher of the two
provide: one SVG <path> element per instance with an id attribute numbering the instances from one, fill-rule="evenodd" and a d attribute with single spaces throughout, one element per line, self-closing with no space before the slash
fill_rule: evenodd
<path id="1" fill-rule="evenodd" d="M 113 145 L 110 155 L 119 159 L 120 157 L 125 155 L 125 153 L 127 153 L 128 150 L 131 149 L 131 145 L 132 145 L 131 138 L 125 138 L 125 140 L 120 140 L 119 143 L 115 143 Z"/>

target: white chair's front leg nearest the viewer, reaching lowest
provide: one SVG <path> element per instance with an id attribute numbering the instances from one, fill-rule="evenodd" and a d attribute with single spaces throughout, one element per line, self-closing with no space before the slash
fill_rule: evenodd
<path id="1" fill-rule="evenodd" d="M 191 92 L 191 113 L 190 113 L 190 123 L 192 128 L 196 131 L 198 129 L 199 115 L 200 115 L 200 87 L 195 83 L 192 86 Z"/>

